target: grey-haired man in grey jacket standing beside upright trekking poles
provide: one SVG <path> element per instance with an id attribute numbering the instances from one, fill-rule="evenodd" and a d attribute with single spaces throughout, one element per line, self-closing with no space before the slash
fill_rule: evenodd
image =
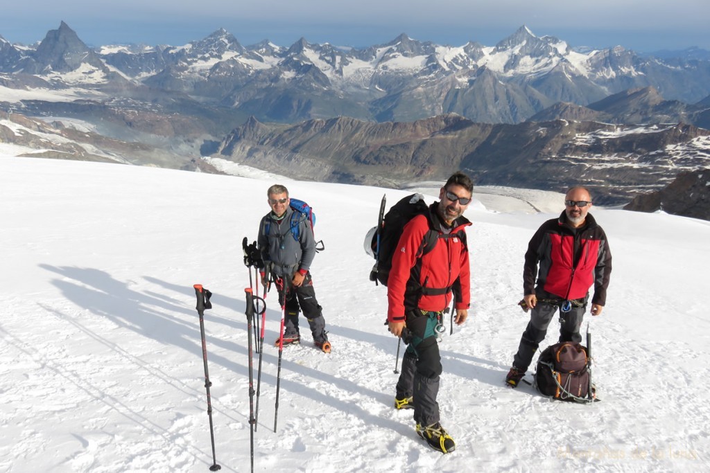
<path id="1" fill-rule="evenodd" d="M 323 352 L 330 352 L 322 307 L 315 298 L 310 265 L 315 257 L 315 238 L 305 214 L 290 206 L 288 189 L 274 184 L 266 192 L 271 212 L 259 223 L 258 247 L 271 272 L 279 293 L 279 304 L 285 306 L 283 345 L 300 343 L 299 309 L 310 325 L 313 343 Z M 267 274 L 261 274 L 266 279 Z M 280 338 L 275 345 L 280 344 Z"/>

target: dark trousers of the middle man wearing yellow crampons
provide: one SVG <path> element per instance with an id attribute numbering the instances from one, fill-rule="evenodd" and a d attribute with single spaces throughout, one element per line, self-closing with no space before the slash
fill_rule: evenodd
<path id="1" fill-rule="evenodd" d="M 420 310 L 407 314 L 407 330 L 412 335 L 402 359 L 402 371 L 397 382 L 397 397 L 413 396 L 414 421 L 421 425 L 439 422 L 439 375 L 441 356 L 435 327 L 437 312 Z"/>

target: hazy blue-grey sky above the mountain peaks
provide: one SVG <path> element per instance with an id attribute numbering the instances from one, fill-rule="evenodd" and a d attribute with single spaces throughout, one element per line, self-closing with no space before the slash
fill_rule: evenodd
<path id="1" fill-rule="evenodd" d="M 355 47 L 400 33 L 438 44 L 494 45 L 522 25 L 572 46 L 622 45 L 641 52 L 699 46 L 710 50 L 709 0 L 11 0 L 0 35 L 34 43 L 65 21 L 84 43 L 182 45 L 218 28 L 249 45 Z"/>

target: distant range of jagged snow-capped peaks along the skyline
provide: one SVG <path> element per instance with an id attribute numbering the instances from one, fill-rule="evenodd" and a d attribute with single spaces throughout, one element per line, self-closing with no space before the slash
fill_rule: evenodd
<path id="1" fill-rule="evenodd" d="M 518 123 L 557 102 L 587 105 L 654 87 L 695 104 L 710 96 L 710 61 L 574 50 L 525 26 L 494 46 L 437 45 L 402 34 L 368 48 L 268 40 L 243 46 L 224 29 L 182 46 L 89 48 L 66 23 L 36 46 L 0 38 L 0 85 L 84 90 L 87 99 L 184 94 L 261 121 L 350 116 L 414 121 L 458 113 Z M 149 94 L 150 94 L 149 93 Z"/>

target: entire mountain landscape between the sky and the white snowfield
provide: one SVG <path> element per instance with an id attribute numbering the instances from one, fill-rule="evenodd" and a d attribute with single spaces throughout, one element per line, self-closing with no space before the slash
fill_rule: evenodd
<path id="1" fill-rule="evenodd" d="M 405 34 L 362 49 L 244 46 L 219 29 L 90 48 L 62 22 L 36 45 L 0 37 L 0 144 L 219 172 L 202 159 L 213 155 L 393 187 L 452 167 L 555 191 L 574 177 L 619 204 L 707 166 L 710 60 L 686 56 L 575 50 L 524 26 L 495 46 Z"/>

